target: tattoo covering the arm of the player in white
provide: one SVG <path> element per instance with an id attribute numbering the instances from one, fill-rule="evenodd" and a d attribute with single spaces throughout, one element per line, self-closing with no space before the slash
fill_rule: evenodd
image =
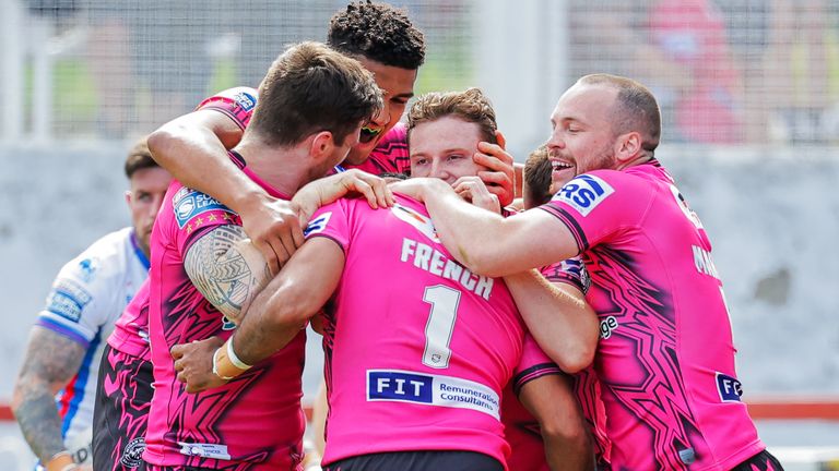
<path id="1" fill-rule="evenodd" d="M 29 448 L 46 463 L 64 449 L 55 394 L 79 372 L 85 349 L 79 342 L 35 327 L 17 383 L 14 416 Z"/>

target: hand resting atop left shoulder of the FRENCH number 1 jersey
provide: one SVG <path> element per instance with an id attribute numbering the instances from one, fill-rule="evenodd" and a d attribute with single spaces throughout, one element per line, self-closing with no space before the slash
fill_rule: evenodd
<path id="1" fill-rule="evenodd" d="M 292 202 L 297 205 L 300 222 L 306 224 L 319 207 L 347 194 L 364 196 L 374 209 L 393 206 L 393 193 L 387 182 L 358 169 L 315 180 L 298 190 Z"/>

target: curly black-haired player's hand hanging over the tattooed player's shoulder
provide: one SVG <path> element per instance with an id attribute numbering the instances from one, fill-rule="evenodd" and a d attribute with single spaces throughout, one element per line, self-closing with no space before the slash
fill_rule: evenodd
<path id="1" fill-rule="evenodd" d="M 272 275 L 280 273 L 292 254 L 303 245 L 302 222 L 294 204 L 264 195 L 239 212 L 245 233 L 268 262 Z"/>

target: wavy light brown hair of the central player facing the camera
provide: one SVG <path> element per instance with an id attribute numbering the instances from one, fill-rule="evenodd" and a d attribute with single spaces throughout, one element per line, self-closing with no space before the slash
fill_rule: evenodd
<path id="1" fill-rule="evenodd" d="M 463 92 L 432 92 L 421 95 L 407 111 L 407 138 L 417 124 L 453 116 L 466 122 L 477 124 L 481 136 L 492 144 L 497 143 L 495 135 L 498 124 L 495 110 L 480 88 L 466 88 Z"/>

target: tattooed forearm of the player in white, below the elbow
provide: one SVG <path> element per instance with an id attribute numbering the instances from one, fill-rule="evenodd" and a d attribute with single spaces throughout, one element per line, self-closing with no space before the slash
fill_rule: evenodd
<path id="1" fill-rule="evenodd" d="M 61 418 L 49 385 L 38 383 L 15 390 L 12 410 L 26 443 L 40 462 L 46 463 L 64 450 Z"/>

